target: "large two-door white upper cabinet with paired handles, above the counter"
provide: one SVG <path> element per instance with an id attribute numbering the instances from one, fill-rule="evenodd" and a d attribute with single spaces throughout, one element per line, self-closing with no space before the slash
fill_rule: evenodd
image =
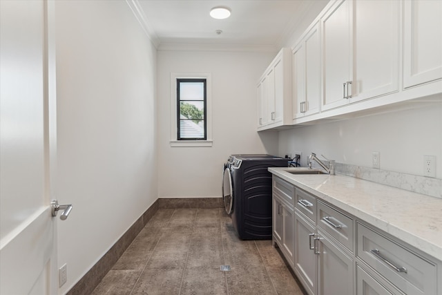
<path id="1" fill-rule="evenodd" d="M 398 91 L 399 16 L 396 0 L 340 0 L 325 13 L 322 111 Z"/>

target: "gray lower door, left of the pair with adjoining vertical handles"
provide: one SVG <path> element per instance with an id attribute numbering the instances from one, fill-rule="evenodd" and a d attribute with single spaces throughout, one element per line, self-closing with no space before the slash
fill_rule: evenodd
<path id="1" fill-rule="evenodd" d="M 309 294 L 316 294 L 316 229 L 295 211 L 295 272 Z M 313 248 L 313 249 L 311 249 Z"/>

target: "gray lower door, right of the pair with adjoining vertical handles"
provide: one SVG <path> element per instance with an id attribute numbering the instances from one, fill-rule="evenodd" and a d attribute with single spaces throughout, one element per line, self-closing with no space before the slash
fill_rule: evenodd
<path id="1" fill-rule="evenodd" d="M 353 259 L 318 231 L 318 294 L 352 295 Z"/>

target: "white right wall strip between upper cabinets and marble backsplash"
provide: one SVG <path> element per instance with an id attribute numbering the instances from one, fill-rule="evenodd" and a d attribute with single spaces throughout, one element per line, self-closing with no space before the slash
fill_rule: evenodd
<path id="1" fill-rule="evenodd" d="M 381 153 L 381 169 L 423 175 L 423 155 L 436 156 L 442 178 L 442 103 L 394 113 L 305 126 L 279 133 L 279 153 L 302 152 L 302 165 L 314 152 L 327 158 L 372 167 Z"/>

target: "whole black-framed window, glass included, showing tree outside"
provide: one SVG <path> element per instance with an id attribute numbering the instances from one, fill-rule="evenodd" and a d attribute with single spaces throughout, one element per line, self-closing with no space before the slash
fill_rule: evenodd
<path id="1" fill-rule="evenodd" d="M 177 79 L 177 140 L 206 140 L 206 79 Z"/>

